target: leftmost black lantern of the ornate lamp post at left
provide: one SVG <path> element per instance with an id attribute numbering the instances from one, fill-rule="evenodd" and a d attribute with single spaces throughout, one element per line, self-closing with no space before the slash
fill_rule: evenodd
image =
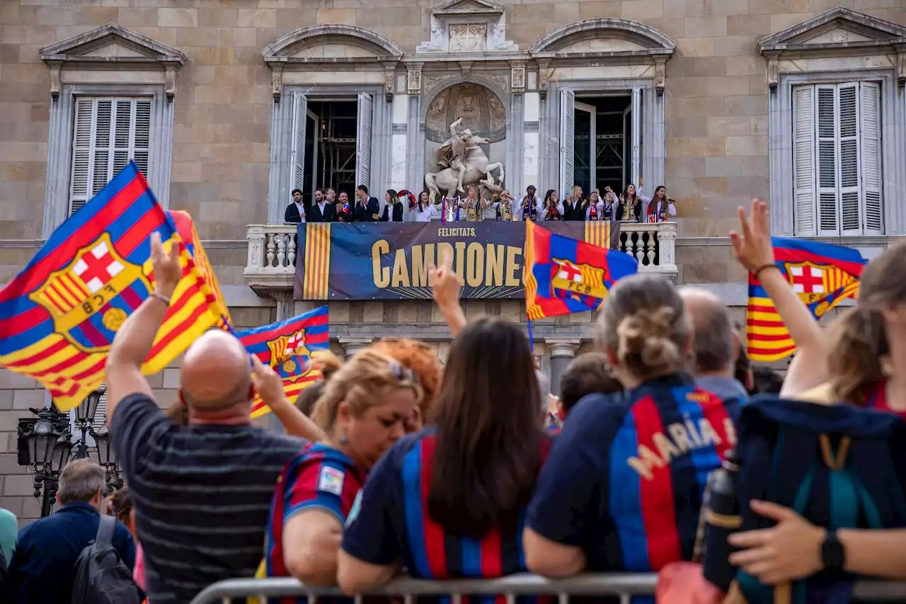
<path id="1" fill-rule="evenodd" d="M 34 497 L 42 497 L 43 492 L 43 517 L 53 510 L 60 472 L 72 453 L 72 434 L 69 416 L 53 406 L 31 411 L 37 417 L 19 421 L 19 464 L 27 465 L 34 473 Z"/>

